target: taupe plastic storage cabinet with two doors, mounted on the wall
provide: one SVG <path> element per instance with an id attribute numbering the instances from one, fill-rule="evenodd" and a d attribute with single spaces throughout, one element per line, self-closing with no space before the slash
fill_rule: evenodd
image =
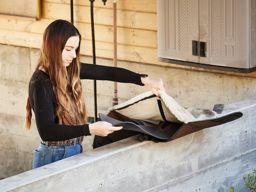
<path id="1" fill-rule="evenodd" d="M 256 71 L 255 0 L 157 0 L 158 60 Z"/>

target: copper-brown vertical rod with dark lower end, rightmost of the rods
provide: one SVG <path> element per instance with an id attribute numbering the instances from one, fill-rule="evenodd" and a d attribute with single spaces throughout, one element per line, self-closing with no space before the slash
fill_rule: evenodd
<path id="1" fill-rule="evenodd" d="M 117 3 L 116 0 L 113 0 L 113 31 L 114 31 L 114 67 L 117 67 Z M 114 82 L 114 98 L 112 104 L 118 104 L 117 96 L 117 82 Z"/>

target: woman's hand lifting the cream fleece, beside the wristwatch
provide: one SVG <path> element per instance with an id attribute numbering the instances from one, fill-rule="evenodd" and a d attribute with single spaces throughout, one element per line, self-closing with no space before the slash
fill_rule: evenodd
<path id="1" fill-rule="evenodd" d="M 146 77 L 146 78 L 142 78 L 141 82 L 144 85 L 146 85 L 149 91 L 151 91 L 158 97 L 159 97 L 159 94 L 157 92 L 158 89 L 165 92 L 163 81 L 159 78 Z"/>

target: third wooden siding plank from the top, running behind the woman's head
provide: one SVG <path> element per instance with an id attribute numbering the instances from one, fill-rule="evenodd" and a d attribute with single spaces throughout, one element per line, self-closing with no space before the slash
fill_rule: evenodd
<path id="1" fill-rule="evenodd" d="M 0 17 L 0 23 L 5 30 L 21 31 L 43 34 L 45 28 L 53 19 L 42 18 L 41 21 L 29 21 L 8 17 Z M 82 39 L 92 40 L 91 24 L 74 22 L 81 33 Z M 97 41 L 113 43 L 113 27 L 105 25 L 94 25 L 95 39 Z M 157 32 L 142 29 L 117 28 L 118 44 L 126 44 L 131 46 L 153 47 L 157 48 Z"/>

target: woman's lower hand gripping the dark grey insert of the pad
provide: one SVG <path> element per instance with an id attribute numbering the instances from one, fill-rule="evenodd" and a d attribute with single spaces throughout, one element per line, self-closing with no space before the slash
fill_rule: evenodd
<path id="1" fill-rule="evenodd" d="M 114 131 L 118 131 L 122 129 L 123 127 L 114 127 L 111 123 L 108 123 L 106 121 L 97 121 L 95 123 L 89 124 L 89 131 L 90 133 L 93 133 L 98 136 L 105 137 L 110 133 L 113 133 Z"/>

